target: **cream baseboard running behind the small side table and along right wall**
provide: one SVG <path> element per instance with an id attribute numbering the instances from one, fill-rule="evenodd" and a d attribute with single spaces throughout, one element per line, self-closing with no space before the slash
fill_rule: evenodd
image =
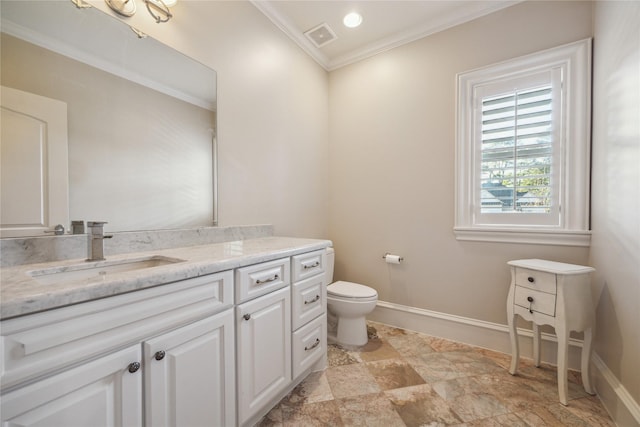
<path id="1" fill-rule="evenodd" d="M 380 323 L 397 326 L 431 336 L 445 338 L 502 353 L 511 353 L 507 325 L 378 301 L 375 310 L 367 317 Z M 552 334 L 542 334 L 541 359 L 556 365 L 557 339 Z M 520 355 L 533 354 L 533 332 L 518 328 Z M 551 345 L 550 345 L 551 343 Z M 569 369 L 580 370 L 582 341 L 569 339 Z M 591 358 L 592 376 L 598 397 L 618 426 L 640 427 L 640 406 L 594 352 Z"/>

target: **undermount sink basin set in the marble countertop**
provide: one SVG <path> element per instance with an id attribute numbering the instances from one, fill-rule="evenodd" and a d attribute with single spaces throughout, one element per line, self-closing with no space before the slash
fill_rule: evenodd
<path id="1" fill-rule="evenodd" d="M 52 284 L 77 280 L 104 280 L 110 275 L 127 271 L 144 270 L 167 264 L 184 262 L 183 259 L 163 256 L 127 259 L 122 261 L 85 262 L 83 264 L 33 270 L 28 274 L 40 283 Z"/>

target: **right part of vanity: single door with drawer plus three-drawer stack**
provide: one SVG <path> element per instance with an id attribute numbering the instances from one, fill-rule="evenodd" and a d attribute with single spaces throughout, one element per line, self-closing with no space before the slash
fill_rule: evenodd
<path id="1" fill-rule="evenodd" d="M 325 250 L 236 270 L 238 424 L 252 425 L 326 358 Z"/>

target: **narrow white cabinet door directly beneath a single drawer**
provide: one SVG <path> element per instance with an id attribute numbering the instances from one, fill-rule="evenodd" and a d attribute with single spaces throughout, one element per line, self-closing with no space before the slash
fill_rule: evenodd
<path id="1" fill-rule="evenodd" d="M 237 307 L 238 419 L 244 424 L 291 383 L 289 287 Z"/>

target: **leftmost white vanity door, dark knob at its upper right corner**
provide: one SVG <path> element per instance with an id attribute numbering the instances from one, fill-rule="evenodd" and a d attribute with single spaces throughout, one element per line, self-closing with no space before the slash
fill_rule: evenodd
<path id="1" fill-rule="evenodd" d="M 140 360 L 135 345 L 6 393 L 2 425 L 141 426 Z"/>

